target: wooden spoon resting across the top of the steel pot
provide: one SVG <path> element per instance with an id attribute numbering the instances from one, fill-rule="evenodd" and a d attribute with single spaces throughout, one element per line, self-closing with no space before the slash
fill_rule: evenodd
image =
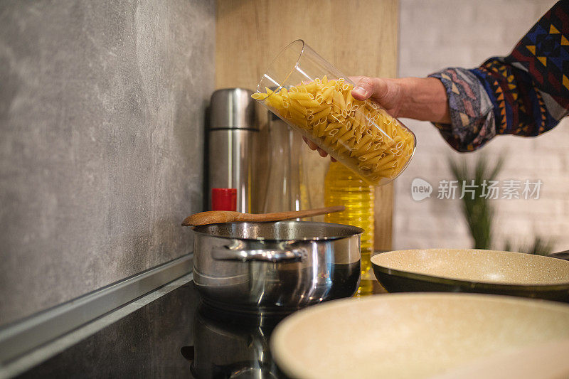
<path id="1" fill-rule="evenodd" d="M 240 213 L 230 210 L 209 210 L 208 212 L 200 212 L 195 215 L 186 217 L 182 226 L 198 226 L 217 223 L 232 223 L 233 221 L 281 221 L 291 220 L 292 218 L 303 218 L 315 215 L 326 215 L 327 213 L 341 212 L 345 210 L 344 205 L 334 207 L 308 209 L 308 210 L 292 210 L 289 212 L 277 213 Z"/>

